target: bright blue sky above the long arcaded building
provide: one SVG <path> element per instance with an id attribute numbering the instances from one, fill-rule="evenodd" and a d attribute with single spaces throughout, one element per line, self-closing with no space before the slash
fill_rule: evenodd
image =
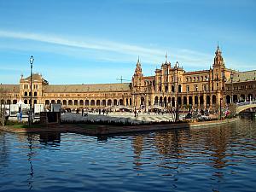
<path id="1" fill-rule="evenodd" d="M 49 84 L 131 79 L 166 60 L 208 69 L 219 42 L 226 67 L 256 69 L 254 0 L 1 0 L 0 83 L 42 73 Z"/>

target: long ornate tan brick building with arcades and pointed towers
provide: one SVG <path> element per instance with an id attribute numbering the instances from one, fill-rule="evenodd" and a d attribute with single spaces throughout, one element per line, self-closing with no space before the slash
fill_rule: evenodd
<path id="1" fill-rule="evenodd" d="M 256 97 L 256 70 L 237 72 L 225 67 L 217 48 L 212 67 L 186 72 L 178 62 L 162 63 L 154 76 L 143 76 L 138 60 L 131 83 L 119 84 L 49 84 L 42 75 L 32 74 L 32 104 L 59 103 L 62 108 L 217 109 L 231 102 Z M 0 84 L 1 103 L 25 104 L 30 101 L 31 77 L 20 77 L 20 84 Z"/>

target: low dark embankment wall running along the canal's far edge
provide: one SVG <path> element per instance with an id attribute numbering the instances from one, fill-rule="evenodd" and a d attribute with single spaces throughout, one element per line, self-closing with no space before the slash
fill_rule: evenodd
<path id="1" fill-rule="evenodd" d="M 201 122 L 178 122 L 178 123 L 159 123 L 152 125 L 88 125 L 88 124 L 49 124 L 32 125 L 31 127 L 17 127 L 15 125 L 0 126 L 0 131 L 9 131 L 13 133 L 35 133 L 35 132 L 74 132 L 89 136 L 126 134 L 142 131 L 162 131 L 172 129 L 195 129 L 235 123 L 239 118 L 221 119 Z"/>

